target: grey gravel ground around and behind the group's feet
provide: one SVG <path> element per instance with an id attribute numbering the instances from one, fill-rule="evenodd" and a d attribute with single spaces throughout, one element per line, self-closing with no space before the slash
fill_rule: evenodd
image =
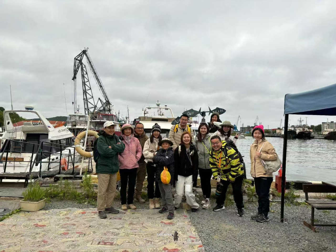
<path id="1" fill-rule="evenodd" d="M 120 209 L 120 195 L 117 193 L 114 207 Z M 138 209 L 148 209 L 149 201 L 140 204 Z M 187 211 L 197 233 L 202 239 L 206 252 L 212 251 L 336 251 L 336 227 L 319 227 L 314 233 L 303 225 L 303 220 L 310 220 L 310 207 L 306 205 L 285 206 L 286 223 L 280 222 L 280 203 L 271 203 L 269 222 L 258 223 L 250 218 L 257 209 L 256 203 L 245 203 L 245 216 L 237 216 L 236 207 L 228 206 L 214 212 L 201 209 L 198 212 Z M 43 210 L 75 208 L 95 208 L 89 204 L 73 201 L 52 201 Z M 181 211 L 181 210 L 177 210 Z M 319 223 L 336 222 L 336 211 L 315 211 Z"/>

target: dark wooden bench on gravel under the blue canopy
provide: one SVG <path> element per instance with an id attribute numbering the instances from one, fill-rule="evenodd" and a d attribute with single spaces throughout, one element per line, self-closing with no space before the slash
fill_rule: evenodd
<path id="1" fill-rule="evenodd" d="M 308 193 L 336 193 L 336 187 L 327 184 L 302 184 L 303 192 L 305 193 L 305 202 L 311 206 L 310 223 L 303 221 L 303 224 L 309 227 L 314 232 L 318 232 L 316 226 L 336 226 L 335 224 L 316 224 L 314 223 L 314 210 L 336 210 L 335 201 L 326 200 L 309 200 Z"/>

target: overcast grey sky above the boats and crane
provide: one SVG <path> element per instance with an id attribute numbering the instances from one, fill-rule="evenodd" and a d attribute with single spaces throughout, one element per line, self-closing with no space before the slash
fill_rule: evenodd
<path id="1" fill-rule="evenodd" d="M 73 60 L 88 47 L 114 110 L 129 106 L 131 119 L 159 100 L 175 116 L 220 107 L 222 120 L 279 127 L 286 93 L 336 82 L 335 12 L 335 1 L 0 0 L 0 106 L 10 109 L 11 85 L 14 109 L 65 116 L 64 83 L 73 112 Z"/>

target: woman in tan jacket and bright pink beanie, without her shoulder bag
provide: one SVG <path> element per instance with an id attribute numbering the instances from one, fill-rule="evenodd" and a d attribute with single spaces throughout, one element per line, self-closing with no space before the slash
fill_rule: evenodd
<path id="1" fill-rule="evenodd" d="M 255 191 L 258 195 L 258 214 L 251 218 L 264 222 L 269 221 L 269 189 L 273 181 L 273 174 L 266 173 L 261 163 L 263 160 L 276 160 L 277 153 L 273 145 L 265 139 L 264 126 L 257 125 L 252 130 L 255 139 L 250 148 L 251 176 L 254 178 Z"/>

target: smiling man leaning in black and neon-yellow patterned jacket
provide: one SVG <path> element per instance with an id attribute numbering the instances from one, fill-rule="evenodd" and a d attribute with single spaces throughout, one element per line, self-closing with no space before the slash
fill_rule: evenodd
<path id="1" fill-rule="evenodd" d="M 236 151 L 221 141 L 218 135 L 211 137 L 209 164 L 213 178 L 217 180 L 217 206 L 214 211 L 224 209 L 225 196 L 228 185 L 232 184 L 233 196 L 237 206 L 238 216 L 244 216 L 242 184 L 244 180 L 243 166 Z"/>

